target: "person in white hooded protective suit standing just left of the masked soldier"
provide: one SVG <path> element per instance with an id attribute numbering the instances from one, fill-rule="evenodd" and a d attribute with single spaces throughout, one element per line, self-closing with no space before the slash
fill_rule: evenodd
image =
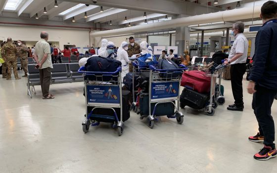
<path id="1" fill-rule="evenodd" d="M 129 73 L 129 63 L 132 61 L 129 60 L 128 53 L 124 49 L 125 47 L 128 48 L 128 43 L 127 42 L 122 42 L 121 46 L 117 50 L 117 57 L 116 60 L 121 61 L 122 65 L 122 72 L 121 72 L 121 81 L 123 82 L 123 78 Z"/>

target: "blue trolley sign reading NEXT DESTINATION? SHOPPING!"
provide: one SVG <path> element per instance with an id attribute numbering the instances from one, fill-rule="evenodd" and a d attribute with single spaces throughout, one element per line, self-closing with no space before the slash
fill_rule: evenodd
<path id="1" fill-rule="evenodd" d="M 88 103 L 120 104 L 120 91 L 116 86 L 87 86 Z"/>

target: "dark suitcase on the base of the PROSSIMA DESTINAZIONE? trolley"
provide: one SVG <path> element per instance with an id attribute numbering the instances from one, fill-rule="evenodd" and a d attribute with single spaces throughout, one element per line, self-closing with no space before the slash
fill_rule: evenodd
<path id="1" fill-rule="evenodd" d="M 175 103 L 175 101 L 174 101 Z M 156 103 L 151 103 L 151 113 Z M 139 97 L 139 111 L 141 116 L 149 115 L 149 95 Z M 155 110 L 155 116 L 174 115 L 175 106 L 172 103 L 160 103 Z"/>

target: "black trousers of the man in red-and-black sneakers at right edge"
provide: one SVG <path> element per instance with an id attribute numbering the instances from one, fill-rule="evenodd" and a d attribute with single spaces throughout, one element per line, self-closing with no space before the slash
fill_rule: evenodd
<path id="1" fill-rule="evenodd" d="M 259 131 L 261 135 L 265 136 L 264 144 L 275 148 L 273 143 L 275 140 L 275 127 L 271 116 L 271 106 L 277 90 L 258 85 L 255 88 L 257 92 L 253 94 L 252 108 L 259 124 Z"/>

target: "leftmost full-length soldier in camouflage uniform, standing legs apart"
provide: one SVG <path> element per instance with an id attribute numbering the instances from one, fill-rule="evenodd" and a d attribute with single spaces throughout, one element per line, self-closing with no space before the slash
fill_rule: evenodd
<path id="1" fill-rule="evenodd" d="M 11 43 L 11 38 L 9 37 L 7 39 L 7 43 L 3 45 L 1 49 L 1 54 L 5 57 L 5 62 L 8 67 L 8 75 L 7 80 L 11 80 L 11 68 L 13 69 L 13 74 L 15 79 L 21 79 L 18 77 L 17 73 L 17 62 L 16 62 L 16 54 L 17 54 L 17 48 L 16 45 Z"/>

